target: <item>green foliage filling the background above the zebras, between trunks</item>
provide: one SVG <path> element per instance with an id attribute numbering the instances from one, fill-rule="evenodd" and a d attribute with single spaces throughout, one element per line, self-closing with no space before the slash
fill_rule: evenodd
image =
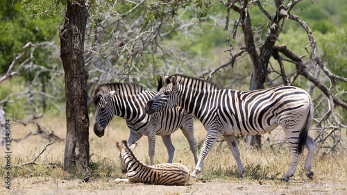
<path id="1" fill-rule="evenodd" d="M 2 75 L 7 69 L 10 62 L 13 60 L 14 53 L 22 52 L 22 46 L 26 42 L 42 42 L 49 41 L 56 33 L 58 25 L 62 22 L 61 10 L 65 6 L 66 1 L 62 0 L 23 0 L 15 1 L 4 0 L 4 6 L 0 8 L 0 24 L 3 26 L 0 30 L 0 74 Z M 110 42 L 105 46 L 99 47 L 97 50 L 91 49 L 92 56 L 96 56 L 101 63 L 101 66 L 109 63 L 115 69 L 121 69 L 120 75 L 130 75 L 136 80 L 135 82 L 146 83 L 146 85 L 154 85 L 155 78 L 153 74 L 164 72 L 166 74 L 174 74 L 176 72 L 196 75 L 206 69 L 215 68 L 227 62 L 230 59 L 228 55 L 230 47 L 226 43 L 227 35 L 224 31 L 225 24 L 216 24 L 212 17 L 217 20 L 224 21 L 227 8 L 220 1 L 146 1 L 139 8 L 133 10 L 129 15 L 126 15 L 130 10 L 135 8 L 136 3 L 140 1 L 89 1 L 88 7 L 89 20 L 87 24 L 86 45 L 94 44 L 93 36 L 96 31 L 102 31 L 102 35 L 98 35 L 97 43 L 103 45 L 110 39 L 114 38 L 115 33 L 124 35 L 124 40 L 133 40 L 137 33 L 128 31 L 128 27 L 135 24 L 135 20 L 143 17 L 140 26 L 136 28 L 142 29 L 142 32 L 158 22 L 165 21 L 160 28 L 160 33 L 173 31 L 177 26 L 182 25 L 182 22 L 191 22 L 190 25 L 181 28 L 179 31 L 169 33 L 168 35 L 157 37 L 156 42 L 149 44 L 144 52 L 138 56 L 132 55 L 136 53 L 123 49 L 117 45 L 117 41 Z M 291 1 L 283 1 L 287 4 Z M 160 4 L 161 3 L 161 4 Z M 273 15 L 276 12 L 273 6 L 273 1 L 260 1 L 263 8 Z M 160 4 L 160 6 L 158 6 Z M 13 5 L 13 6 L 12 6 Z M 23 9 L 24 8 L 24 9 Z M 327 67 L 334 74 L 346 77 L 346 24 L 347 24 L 347 5 L 344 1 L 301 1 L 298 3 L 291 13 L 303 18 L 310 26 L 316 37 L 319 49 L 326 52 L 324 61 Z M 255 37 L 262 43 L 265 35 L 268 32 L 267 18 L 253 3 L 248 5 L 248 10 L 251 15 Z M 112 20 L 108 19 L 108 13 L 117 12 Z M 28 17 L 30 15 L 31 17 Z M 126 15 L 126 16 L 124 16 Z M 206 17 L 208 16 L 208 17 Z M 235 20 L 239 19 L 239 14 L 235 11 L 230 11 L 230 24 L 228 26 L 230 33 Z M 115 24 L 115 20 L 120 19 L 119 24 Z M 121 24 L 127 24 L 122 26 Z M 110 25 L 110 26 L 109 26 Z M 106 27 L 105 27 L 106 26 Z M 335 28 L 339 26 L 339 28 Z M 117 28 L 116 28 L 117 27 Z M 137 29 L 136 29 L 137 30 Z M 130 33 L 128 33 L 130 32 Z M 239 26 L 237 33 L 242 33 Z M 16 35 L 16 36 L 8 36 Z M 232 37 L 232 35 L 231 35 Z M 151 38 L 151 37 L 150 37 Z M 310 54 L 305 50 L 305 46 L 309 44 L 307 35 L 302 27 L 296 22 L 289 19 L 285 20 L 285 26 L 280 33 L 280 42 L 285 44 L 291 51 L 299 56 L 305 55 L 303 60 L 310 57 Z M 232 40 L 232 45 L 235 46 L 232 53 L 236 53 L 239 48 L 244 47 L 242 35 L 238 34 L 236 40 Z M 58 37 L 53 37 L 53 42 L 59 42 Z M 132 43 L 131 43 L 132 44 Z M 144 44 L 134 44 L 135 49 L 138 49 Z M 128 48 L 130 45 L 125 46 Z M 87 48 L 87 47 L 86 47 Z M 122 50 L 123 49 L 123 50 Z M 309 49 L 310 50 L 310 49 Z M 59 62 L 52 60 L 49 56 L 57 55 L 49 51 L 49 49 L 36 49 L 33 53 L 34 58 L 31 63 L 42 65 L 44 67 L 57 66 Z M 57 55 L 58 56 L 58 55 Z M 89 57 L 86 57 L 89 58 Z M 21 61 L 19 61 L 21 62 Z M 92 62 L 87 62 L 87 68 L 92 69 Z M 279 71 L 277 62 L 271 59 L 271 64 L 275 65 L 275 69 Z M 61 67 L 60 67 L 61 68 Z M 220 72 L 212 77 L 212 81 L 221 85 L 221 87 L 232 87 L 238 90 L 246 90 L 249 85 L 249 78 L 252 73 L 251 60 L 247 57 L 237 61 L 235 67 L 225 67 Z M 295 70 L 295 66 L 289 62 L 285 62 L 286 73 Z M 107 70 L 106 70 L 107 71 Z M 42 73 L 41 73 L 42 74 Z M 99 72 L 92 76 L 98 76 Z M 42 74 L 46 83 L 51 83 L 50 74 Z M 140 76 L 139 76 L 140 75 Z M 22 83 L 27 80 L 33 80 L 37 76 L 37 69 L 26 69 L 22 72 L 21 77 L 24 78 Z M 277 74 L 270 74 L 269 78 L 275 79 Z M 124 76 L 125 77 L 125 76 Z M 151 82 L 146 78 L 151 78 Z M 115 75 L 113 80 L 124 80 L 121 76 Z M 280 78 L 279 78 L 280 79 Z M 47 82 L 50 80 L 49 82 Z M 305 88 L 307 80 L 298 78 L 295 85 Z M 17 85 L 23 85 L 18 82 Z M 341 89 L 346 89 L 346 83 L 338 83 Z M 63 79 L 57 80 L 55 85 L 64 86 Z M 36 90 L 40 90 L 39 86 Z M 53 88 L 53 85 L 49 85 Z M 58 88 L 59 88 L 58 87 Z M 8 91 L 1 87 L 0 98 L 6 97 Z M 60 89 L 60 88 L 59 88 Z M 91 87 L 92 89 L 92 87 Z M 153 88 L 154 89 L 154 88 Z M 341 90 L 340 89 L 340 90 Z M 16 92 L 13 90 L 12 92 Z M 90 94 L 92 93 L 92 90 Z M 55 90 L 52 94 L 60 96 L 60 102 L 63 102 L 64 93 Z M 25 103 L 22 102 L 22 103 Z M 16 105 L 17 106 L 17 105 Z M 53 106 L 52 106 L 53 107 Z M 12 108 L 9 108 L 12 109 Z"/>

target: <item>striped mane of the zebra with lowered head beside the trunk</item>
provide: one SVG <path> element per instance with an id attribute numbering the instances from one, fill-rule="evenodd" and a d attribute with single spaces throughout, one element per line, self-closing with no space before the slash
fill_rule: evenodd
<path id="1" fill-rule="evenodd" d="M 94 105 L 99 103 L 100 97 L 108 92 L 119 90 L 120 94 L 141 94 L 144 92 L 144 87 L 139 83 L 103 83 L 94 90 L 93 102 Z"/>

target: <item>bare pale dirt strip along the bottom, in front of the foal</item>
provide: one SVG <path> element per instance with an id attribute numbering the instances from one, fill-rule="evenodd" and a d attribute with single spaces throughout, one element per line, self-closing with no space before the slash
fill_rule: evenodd
<path id="1" fill-rule="evenodd" d="M 119 183 L 109 180 L 103 185 L 81 183 L 79 180 L 52 182 L 28 182 L 9 194 L 347 194 L 342 184 L 282 183 L 257 184 L 194 181 L 186 186 L 144 185 L 142 183 Z M 9 191 L 7 191 L 9 192 Z M 2 193 L 1 193 L 2 194 Z"/>

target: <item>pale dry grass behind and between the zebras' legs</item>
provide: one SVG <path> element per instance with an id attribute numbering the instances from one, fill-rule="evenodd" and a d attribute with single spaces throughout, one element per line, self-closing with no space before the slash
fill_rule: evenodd
<path id="1" fill-rule="evenodd" d="M 64 117 L 46 117 L 40 121 L 43 126 L 51 126 L 51 129 L 59 137 L 65 138 L 65 118 Z M 92 124 L 92 119 L 91 119 Z M 12 123 L 12 137 L 18 138 L 26 135 L 28 130 L 35 130 L 34 126 L 23 128 L 20 124 Z M 96 137 L 90 128 L 90 178 L 92 185 L 69 185 L 69 180 L 82 180 L 84 176 L 71 175 L 62 170 L 62 162 L 64 161 L 65 142 L 56 142 L 49 146 L 47 150 L 40 156 L 35 165 L 26 165 L 24 167 L 12 167 L 11 169 L 11 187 L 12 193 L 22 194 L 30 192 L 33 186 L 40 189 L 126 189 L 127 185 L 117 185 L 110 182 L 114 178 L 124 178 L 124 174 L 120 171 L 119 152 L 115 146 L 116 141 L 128 139 L 129 130 L 126 127 L 123 119 L 115 118 L 106 129 L 105 136 L 102 138 Z M 199 149 L 205 139 L 206 132 L 200 122 L 196 121 L 194 126 L 194 135 L 197 140 Z M 301 158 L 300 164 L 296 169 L 296 173 L 291 178 L 290 183 L 280 181 L 282 175 L 289 168 L 291 162 L 291 151 L 287 144 L 276 146 L 271 149 L 266 137 L 271 136 L 283 139 L 280 130 L 275 130 L 269 135 L 264 135 L 263 150 L 255 151 L 246 149 L 244 142 L 239 142 L 239 150 L 241 153 L 242 162 L 246 169 L 244 179 L 237 178 L 237 166 L 232 157 L 228 146 L 225 142 L 217 142 L 214 144 L 210 153 L 203 164 L 203 173 L 198 176 L 198 180 L 212 181 L 218 183 L 236 183 L 236 184 L 266 184 L 273 192 L 288 192 L 289 186 L 307 185 L 316 190 L 323 190 L 324 185 L 341 184 L 338 190 L 345 191 L 347 187 L 347 158 L 346 152 L 339 151 L 329 155 L 316 153 L 312 170 L 314 171 L 314 179 L 311 180 L 303 173 L 303 164 L 307 150 L 305 150 L 304 158 Z M 167 162 L 167 151 L 162 144 L 160 137 L 157 137 L 155 147 L 155 163 Z M 189 150 L 187 140 L 183 133 L 178 130 L 171 136 L 173 144 L 176 148 L 174 162 L 185 164 L 189 170 L 194 169 L 194 158 Z M 40 153 L 46 140 L 42 140 L 40 136 L 35 135 L 21 142 L 12 142 L 11 149 L 11 164 L 20 164 L 33 160 L 37 153 Z M 148 142 L 146 137 L 139 140 L 137 149 L 135 149 L 137 158 L 142 162 L 149 164 Z M 4 158 L 0 160 L 1 164 L 5 164 Z M 50 165 L 48 162 L 58 162 L 58 165 Z M 4 170 L 1 169 L 1 176 L 4 175 Z M 191 181 L 192 183 L 198 180 Z M 321 185 L 319 185 L 321 184 Z M 44 186 L 44 187 L 43 187 Z M 324 188 L 325 189 L 325 188 Z M 302 194 L 303 189 L 296 189 L 290 194 Z M 5 185 L 2 184 L 0 194 L 8 192 Z M 346 192 L 346 191 L 345 191 Z M 44 194 L 44 193 L 43 193 Z M 175 193 L 173 193 L 175 194 Z"/>

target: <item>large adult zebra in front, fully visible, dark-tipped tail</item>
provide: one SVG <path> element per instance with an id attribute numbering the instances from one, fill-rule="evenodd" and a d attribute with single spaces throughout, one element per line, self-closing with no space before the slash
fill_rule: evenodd
<path id="1" fill-rule="evenodd" d="M 284 130 L 293 153 L 282 180 L 288 181 L 294 176 L 304 144 L 308 149 L 305 173 L 313 177 L 311 164 L 316 142 L 308 135 L 308 130 L 314 108 L 305 90 L 294 86 L 254 91 L 219 90 L 212 82 L 180 74 L 166 76 L 165 82 L 167 85 L 146 104 L 146 113 L 151 115 L 178 105 L 199 119 L 208 131 L 192 177 L 201 172 L 208 151 L 223 135 L 237 162 L 238 176 L 242 178 L 244 166 L 235 135 L 260 135 L 278 125 Z"/>

